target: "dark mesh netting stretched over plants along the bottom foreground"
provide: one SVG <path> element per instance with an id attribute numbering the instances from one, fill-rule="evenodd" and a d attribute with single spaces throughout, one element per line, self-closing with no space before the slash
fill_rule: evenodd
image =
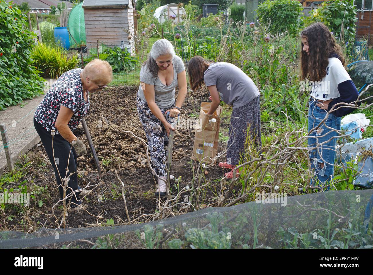
<path id="1" fill-rule="evenodd" d="M 1 232 L 0 248 L 373 248 L 373 190 L 263 198 L 146 224 Z"/>

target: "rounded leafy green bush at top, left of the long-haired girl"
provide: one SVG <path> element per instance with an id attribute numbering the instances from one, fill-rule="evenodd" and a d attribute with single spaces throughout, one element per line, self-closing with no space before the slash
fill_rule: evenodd
<path id="1" fill-rule="evenodd" d="M 298 35 L 301 23 L 298 20 L 302 15 L 302 4 L 293 0 L 267 0 L 258 6 L 258 20 L 261 24 L 267 24 L 271 20 L 268 31 L 277 32 L 289 31 L 293 37 Z"/>

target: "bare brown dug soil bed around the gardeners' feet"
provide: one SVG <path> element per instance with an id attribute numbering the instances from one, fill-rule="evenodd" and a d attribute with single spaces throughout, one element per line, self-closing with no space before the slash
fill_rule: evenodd
<path id="1" fill-rule="evenodd" d="M 113 182 L 108 181 L 114 199 L 111 198 L 106 188 L 103 199 L 99 188 L 98 201 L 95 194 L 91 193 L 84 199 L 88 204 L 87 211 L 70 212 L 66 218 L 66 226 L 70 228 L 106 224 L 107 220 L 113 219 L 115 224 L 125 223 L 127 216 L 123 198 L 121 196 L 122 185 L 116 179 L 114 171 L 117 170 L 125 185 L 125 197 L 132 219 L 142 214 L 151 214 L 157 208 L 157 200 L 154 198 L 156 190 L 156 178 L 151 174 L 146 161 L 146 147 L 141 141 L 125 131 L 146 141 L 145 132 L 138 118 L 136 110 L 136 93 L 138 87 L 109 87 L 100 93 L 90 95 L 90 111 L 85 118 L 90 134 L 94 142 L 95 150 L 100 159 L 101 169 L 109 175 Z M 182 108 L 184 119 L 198 119 L 201 101 L 209 101 L 206 90 L 199 90 L 188 94 Z M 223 120 L 220 127 L 228 128 Z M 78 157 L 79 185 L 86 186 L 89 182 L 97 182 L 97 168 L 91 156 L 84 131 L 79 125 L 75 134 L 87 146 L 88 154 Z M 175 131 L 172 175 L 176 178 L 181 176 L 179 188 L 185 187 L 193 177 L 193 168 L 196 163 L 191 162 L 193 150 L 194 129 L 177 129 Z M 219 143 L 219 151 L 225 148 L 225 143 Z M 218 160 L 224 161 L 224 157 Z M 62 205 L 54 208 L 54 216 L 51 217 L 51 207 L 59 200 L 59 192 L 56 187 L 54 171 L 47 158 L 44 147 L 40 144 L 35 146 L 23 159 L 31 162 L 25 169 L 25 175 L 17 182 L 10 182 L 8 188 L 18 188 L 23 181 L 35 198 L 31 198 L 31 205 L 26 208 L 12 206 L 6 207 L 5 218 L 0 221 L 0 230 L 19 230 L 31 232 L 40 228 L 45 223 L 47 228 L 60 226 Z M 224 171 L 219 166 L 213 166 L 205 172 L 206 181 L 210 181 L 209 188 L 204 192 L 204 198 L 219 196 L 220 181 Z M 175 184 L 175 182 L 172 182 Z M 47 187 L 47 188 L 45 188 Z M 176 191 L 176 186 L 172 186 Z M 40 200 L 43 204 L 40 205 Z M 203 207 L 213 205 L 210 201 Z M 195 209 L 190 209 L 193 211 Z M 3 215 L 3 213 L 1 213 Z M 11 218 L 8 218 L 11 217 Z M 47 221 L 47 222 L 46 222 Z M 138 220 L 138 222 L 144 220 Z"/>

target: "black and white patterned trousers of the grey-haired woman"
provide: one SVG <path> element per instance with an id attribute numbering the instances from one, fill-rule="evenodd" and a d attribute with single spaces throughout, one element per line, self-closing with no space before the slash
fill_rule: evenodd
<path id="1" fill-rule="evenodd" d="M 136 107 L 148 140 L 151 166 L 156 171 L 157 175 L 167 176 L 166 150 L 164 149 L 164 147 L 168 145 L 166 128 L 164 128 L 162 122 L 153 115 L 148 103 L 140 99 L 140 97 L 136 97 Z M 160 110 L 166 117 L 165 112 L 173 107 L 175 107 L 175 104 L 169 108 L 160 108 Z"/>

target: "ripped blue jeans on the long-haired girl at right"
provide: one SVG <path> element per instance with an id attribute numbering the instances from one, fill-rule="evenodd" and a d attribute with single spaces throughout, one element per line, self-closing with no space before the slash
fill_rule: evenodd
<path id="1" fill-rule="evenodd" d="M 325 119 L 326 110 L 318 107 L 316 100 L 310 99 L 308 107 L 308 132 L 316 128 Z M 313 176 L 311 185 L 325 187 L 330 184 L 334 173 L 335 144 L 338 132 L 341 129 L 341 118 L 329 113 L 328 118 L 316 129 L 310 132 L 308 137 L 308 154 L 311 161 Z M 324 163 L 322 167 L 321 163 Z M 329 190 L 330 187 L 327 189 Z"/>

